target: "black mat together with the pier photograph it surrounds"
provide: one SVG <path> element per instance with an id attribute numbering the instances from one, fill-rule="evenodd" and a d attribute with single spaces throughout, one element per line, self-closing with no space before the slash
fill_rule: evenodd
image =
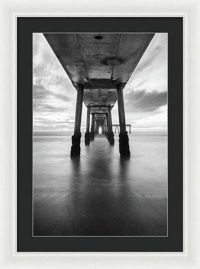
<path id="1" fill-rule="evenodd" d="M 182 18 L 23 17 L 17 44 L 17 251 L 182 252 Z"/>

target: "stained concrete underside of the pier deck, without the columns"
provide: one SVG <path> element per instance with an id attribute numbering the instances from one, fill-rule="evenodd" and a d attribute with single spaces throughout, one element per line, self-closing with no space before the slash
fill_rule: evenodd
<path id="1" fill-rule="evenodd" d="M 105 106 L 114 105 L 116 84 L 125 86 L 154 36 L 153 33 L 43 35 L 72 84 L 84 85 L 83 101 L 93 106 L 91 113 L 106 113 Z"/>

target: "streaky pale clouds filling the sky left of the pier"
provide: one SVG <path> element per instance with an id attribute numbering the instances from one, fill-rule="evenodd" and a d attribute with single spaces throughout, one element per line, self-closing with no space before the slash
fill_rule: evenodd
<path id="1" fill-rule="evenodd" d="M 76 90 L 41 33 L 33 35 L 33 127 L 52 131 L 74 120 Z M 65 123 L 68 121 L 68 124 Z M 57 125 L 60 124 L 60 125 Z"/>

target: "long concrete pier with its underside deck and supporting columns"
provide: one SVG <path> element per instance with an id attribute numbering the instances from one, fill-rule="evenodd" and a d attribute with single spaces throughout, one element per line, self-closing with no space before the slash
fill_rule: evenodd
<path id="1" fill-rule="evenodd" d="M 43 34 L 77 91 L 71 157 L 80 156 L 82 103 L 87 107 L 85 145 L 101 127 L 114 145 L 112 126 L 119 126 L 119 154 L 129 157 L 123 89 L 148 47 L 153 33 Z M 118 104 L 119 124 L 112 124 L 111 110 Z M 91 122 L 90 122 L 91 115 Z M 116 131 L 116 129 L 115 129 Z M 130 133 L 130 126 L 129 126 Z"/>

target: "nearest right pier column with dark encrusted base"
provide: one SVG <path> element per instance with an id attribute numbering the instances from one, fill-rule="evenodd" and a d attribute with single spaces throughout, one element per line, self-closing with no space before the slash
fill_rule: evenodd
<path id="1" fill-rule="evenodd" d="M 130 150 L 128 144 L 128 134 L 125 129 L 125 112 L 123 103 L 123 89 L 122 85 L 116 85 L 117 103 L 118 103 L 118 116 L 119 116 L 119 153 L 121 157 L 129 157 Z"/>

